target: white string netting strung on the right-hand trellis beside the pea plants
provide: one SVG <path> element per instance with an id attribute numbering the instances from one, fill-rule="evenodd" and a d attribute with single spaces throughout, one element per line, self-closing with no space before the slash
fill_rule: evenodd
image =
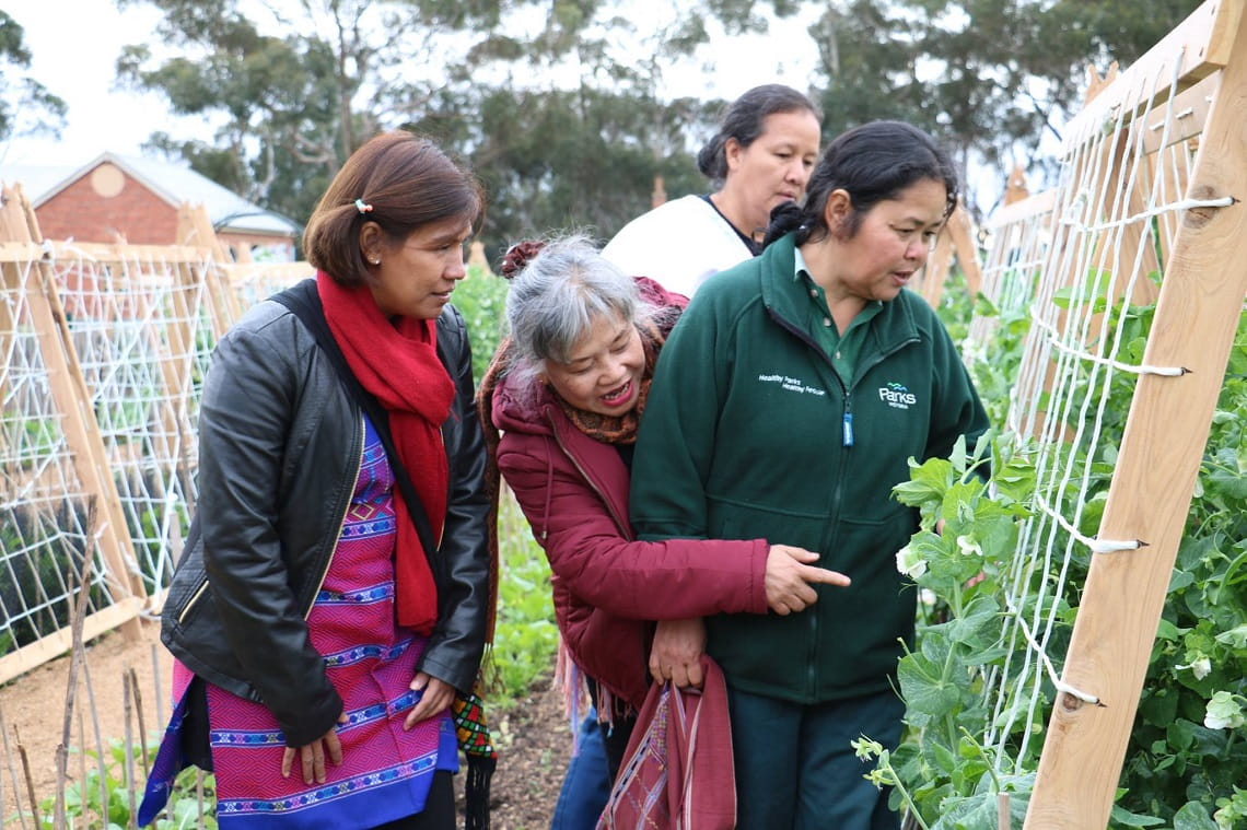
<path id="1" fill-rule="evenodd" d="M 1130 556 L 1142 543 L 1095 536 L 1139 375 L 1183 371 L 1142 364 L 1140 320 L 1150 320 L 1160 262 L 1183 212 L 1231 203 L 1185 196 L 1197 125 L 1177 91 L 1175 69 L 1153 79 L 1140 101 L 1070 140 L 1052 212 L 996 228 L 989 241 L 984 293 L 1000 308 L 1030 305 L 1006 427 L 1036 472 L 1033 515 L 1001 577 L 1008 657 L 983 678 L 991 712 L 984 745 L 998 771 L 1028 771 L 1024 759 L 1038 750 L 1030 742 L 1056 692 L 1097 700 L 1094 683 L 1080 689 L 1060 680 L 1079 587 L 1071 572 L 1085 572 L 1092 556 Z M 990 354 L 991 325 L 971 328 L 981 338 L 974 349 Z"/>

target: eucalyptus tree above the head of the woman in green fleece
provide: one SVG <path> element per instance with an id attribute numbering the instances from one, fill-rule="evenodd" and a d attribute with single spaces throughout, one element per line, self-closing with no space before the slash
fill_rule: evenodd
<path id="1" fill-rule="evenodd" d="M 1082 105 L 1086 66 L 1129 65 L 1198 0 L 840 0 L 811 27 L 824 132 L 907 118 L 963 165 L 1040 166 Z"/>

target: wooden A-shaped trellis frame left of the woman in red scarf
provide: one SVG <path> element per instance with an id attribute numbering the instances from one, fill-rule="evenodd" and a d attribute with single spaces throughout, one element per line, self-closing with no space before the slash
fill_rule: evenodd
<path id="1" fill-rule="evenodd" d="M 140 614 L 158 611 L 163 589 L 145 584 L 137 573 L 136 542 L 127 532 L 126 502 L 115 480 L 118 475 L 135 475 L 126 467 L 133 457 L 127 457 L 126 451 L 110 456 L 111 445 L 96 416 L 102 405 L 94 396 L 99 390 L 91 388 L 84 371 L 75 336 L 85 335 L 81 327 L 89 312 L 108 318 L 91 320 L 104 328 L 116 320 L 132 323 L 131 315 L 150 322 L 140 332 L 131 325 L 126 333 L 147 343 L 147 348 L 140 349 L 140 359 L 146 361 L 141 374 L 145 389 L 150 383 L 152 400 L 157 401 L 147 405 L 158 409 L 150 431 L 150 451 L 160 456 L 162 470 L 168 465 L 177 469 L 177 492 L 166 487 L 157 496 L 176 496 L 178 507 L 190 515 L 196 495 L 198 404 L 198 389 L 190 375 L 202 378 L 207 365 L 205 345 L 211 348 L 248 307 L 311 275 L 313 269 L 307 263 L 227 263 L 221 259 L 222 248 L 202 207 L 185 204 L 180 211 L 180 239 L 186 244 L 94 244 L 41 239 L 20 186 L 6 189 L 4 199 L 0 288 L 22 290 L 24 323 L 37 332 L 37 350 L 47 364 L 57 424 L 70 447 L 72 470 L 66 475 L 76 479 L 74 497 L 89 500 L 97 513 L 94 545 L 104 567 L 96 567 L 95 572 L 107 573 L 110 604 L 86 618 L 84 638 L 117 627 L 133 637 L 138 634 Z M 19 285 L 24 274 L 25 282 Z M 14 332 L 15 320 L 9 319 L 7 305 L 0 303 L 0 354 L 9 354 Z M 9 369 L 6 365 L 0 373 L 0 396 L 6 393 Z M 121 444 L 117 441 L 118 447 Z M 143 459 L 151 460 L 146 455 Z M 0 503 L 20 505 L 20 494 L 0 492 Z M 167 560 L 171 567 L 176 560 L 183 531 L 181 520 L 162 528 L 161 540 L 167 548 L 162 548 L 162 563 Z M 64 628 L 4 654 L 0 683 L 69 647 L 70 631 Z"/>

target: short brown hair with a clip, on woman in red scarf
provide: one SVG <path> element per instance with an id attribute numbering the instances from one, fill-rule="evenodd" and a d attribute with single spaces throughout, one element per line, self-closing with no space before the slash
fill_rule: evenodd
<path id="1" fill-rule="evenodd" d="M 357 199 L 370 209 L 360 211 Z M 303 231 L 303 255 L 342 285 L 364 285 L 372 282 L 359 247 L 364 222 L 375 222 L 398 244 L 454 217 L 475 227 L 484 209 L 480 182 L 436 145 L 400 130 L 383 132 L 333 177 Z"/>

